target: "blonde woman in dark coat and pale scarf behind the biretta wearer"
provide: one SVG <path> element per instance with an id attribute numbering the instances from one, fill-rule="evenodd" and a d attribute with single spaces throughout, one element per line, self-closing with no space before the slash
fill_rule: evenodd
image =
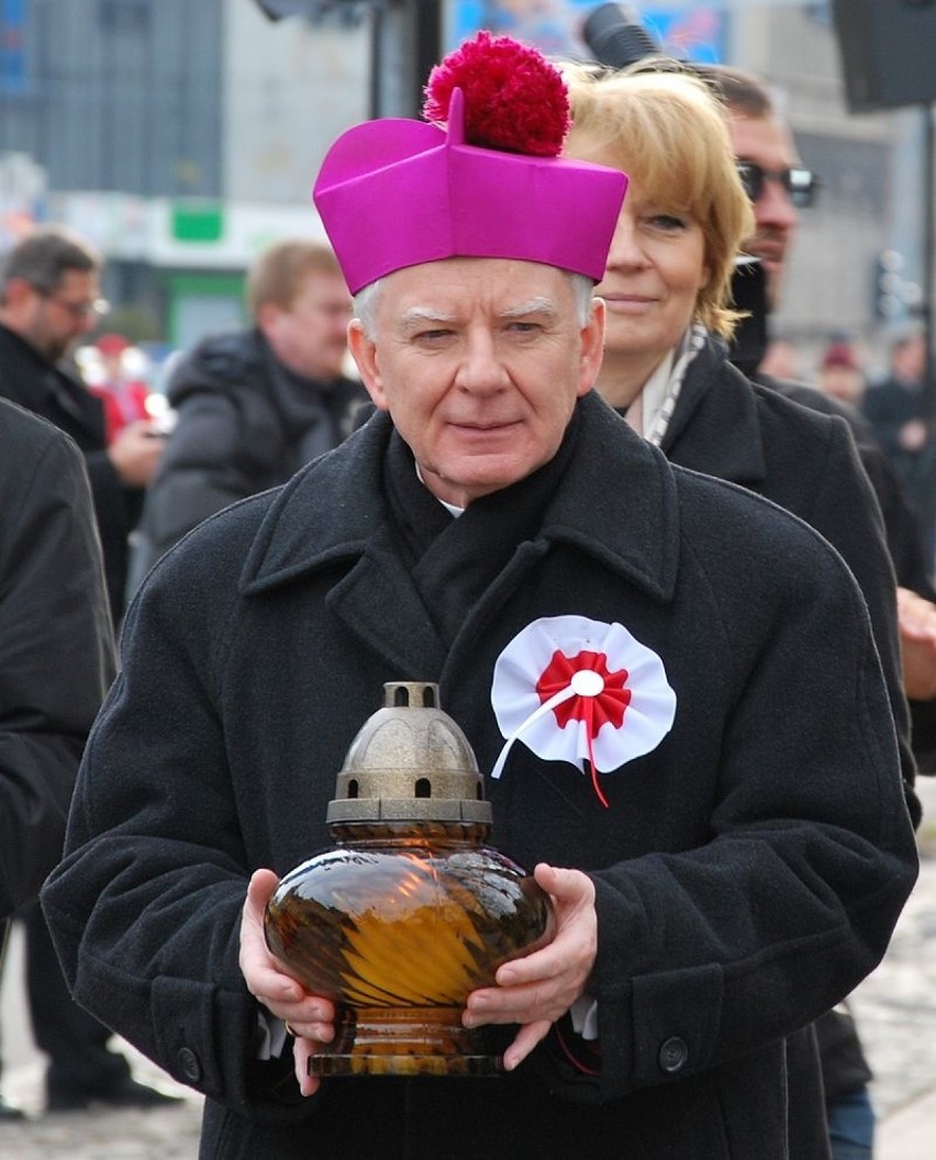
<path id="1" fill-rule="evenodd" d="M 842 419 L 806 411 L 746 379 L 730 362 L 725 339 L 732 319 L 712 305 L 719 285 L 733 276 L 742 241 L 754 233 L 750 210 L 737 209 L 745 190 L 721 110 L 688 73 L 638 68 L 611 75 L 581 66 L 567 74 L 574 107 L 567 152 L 616 164 L 631 176 L 605 280 L 596 291 L 608 300 L 610 318 L 597 387 L 672 462 L 766 495 L 842 553 L 871 612 L 898 723 L 906 793 L 919 822 L 897 585 L 854 440 Z M 668 158 L 658 142 L 667 143 Z M 694 262 L 680 266 L 674 255 L 681 252 L 694 254 Z M 819 1034 L 833 1021 L 841 1023 L 839 1016 L 820 1020 Z M 829 1086 L 832 1075 L 829 1070 Z"/>

